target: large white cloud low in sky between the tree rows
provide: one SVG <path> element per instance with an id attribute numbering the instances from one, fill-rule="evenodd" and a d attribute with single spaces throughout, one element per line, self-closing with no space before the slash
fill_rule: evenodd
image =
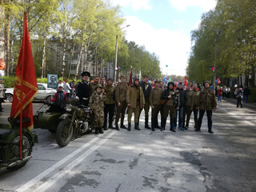
<path id="1" fill-rule="evenodd" d="M 164 74 L 186 74 L 190 35 L 184 34 L 182 30 L 155 30 L 149 23 L 142 22 L 134 16 L 126 17 L 126 23 L 132 23 L 126 28 L 126 39 L 157 54 Z"/>

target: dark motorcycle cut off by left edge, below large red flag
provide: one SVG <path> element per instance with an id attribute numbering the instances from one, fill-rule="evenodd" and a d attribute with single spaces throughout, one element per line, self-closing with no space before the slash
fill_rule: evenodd
<path id="1" fill-rule="evenodd" d="M 22 118 L 28 122 L 30 118 Z M 0 170 L 18 170 L 32 158 L 30 156 L 38 137 L 26 127 L 22 127 L 22 158 L 20 158 L 20 119 L 8 118 L 8 124 L 0 123 Z"/>

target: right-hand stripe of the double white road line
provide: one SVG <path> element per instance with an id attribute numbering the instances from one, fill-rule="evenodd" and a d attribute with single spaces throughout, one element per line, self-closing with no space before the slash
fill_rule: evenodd
<path id="1" fill-rule="evenodd" d="M 41 186 L 38 186 L 37 192 L 43 192 L 50 188 L 50 186 L 53 186 L 55 182 L 58 181 L 58 179 L 62 178 L 65 174 L 69 174 L 74 166 L 77 166 L 78 163 L 82 162 L 87 156 L 89 156 L 91 153 L 94 152 L 94 150 L 97 150 L 99 146 L 102 146 L 109 138 L 111 138 L 116 131 L 112 131 L 110 134 L 106 136 L 106 138 L 102 138 L 102 141 L 98 142 L 95 146 L 91 147 L 89 150 L 86 150 L 85 153 L 83 153 L 81 156 L 76 158 L 74 162 L 70 162 L 68 166 L 66 166 L 63 170 L 59 171 L 58 174 L 55 174 L 53 177 L 48 179 L 48 181 L 43 182 Z"/>

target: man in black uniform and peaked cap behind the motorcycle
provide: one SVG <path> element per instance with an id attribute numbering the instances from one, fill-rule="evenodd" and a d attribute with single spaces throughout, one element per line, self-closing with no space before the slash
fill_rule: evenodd
<path id="1" fill-rule="evenodd" d="M 88 80 L 90 78 L 90 73 L 88 71 L 85 71 L 85 72 L 82 72 L 81 76 L 82 76 L 82 82 L 80 82 L 78 85 L 78 98 L 82 105 L 88 106 L 89 91 L 90 91 Z"/>

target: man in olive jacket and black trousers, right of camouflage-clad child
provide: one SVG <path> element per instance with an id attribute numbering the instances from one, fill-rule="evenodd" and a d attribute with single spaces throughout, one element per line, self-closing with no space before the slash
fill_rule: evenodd
<path id="1" fill-rule="evenodd" d="M 104 107 L 104 114 L 105 114 L 105 120 L 104 120 L 104 130 L 107 130 L 107 114 L 109 114 L 109 128 L 113 129 L 113 117 L 114 117 L 114 86 L 113 86 L 113 80 L 112 78 L 108 78 L 106 82 L 106 86 L 103 87 L 105 93 L 106 93 L 106 101 L 105 107 Z M 119 130 L 119 129 L 117 129 Z"/>

